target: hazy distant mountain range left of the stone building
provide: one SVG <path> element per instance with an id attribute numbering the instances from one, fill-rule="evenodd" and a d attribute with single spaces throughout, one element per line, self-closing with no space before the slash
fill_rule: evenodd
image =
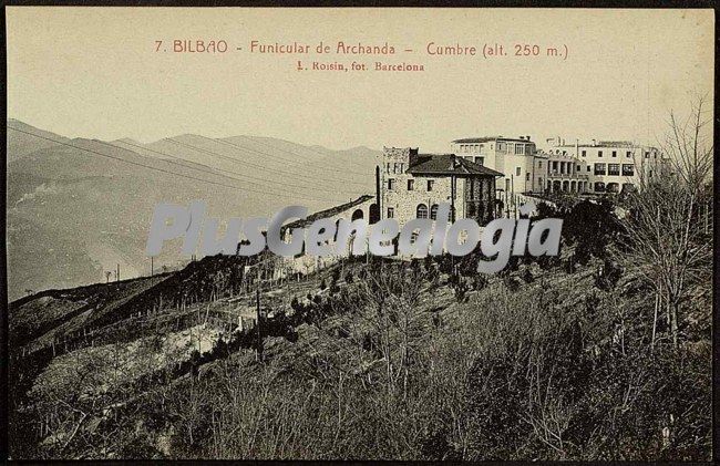
<path id="1" fill-rule="evenodd" d="M 150 273 L 144 248 L 157 203 L 207 201 L 208 215 L 267 216 L 299 204 L 310 211 L 373 193 L 381 154 L 331 151 L 288 141 L 184 134 L 143 144 L 131 138 L 68 138 L 8 121 L 9 299 L 29 290 Z M 179 241 L 155 269 L 186 262 Z"/>

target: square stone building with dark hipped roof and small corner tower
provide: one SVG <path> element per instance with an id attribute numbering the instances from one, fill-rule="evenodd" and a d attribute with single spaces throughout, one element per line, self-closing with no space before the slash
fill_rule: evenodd
<path id="1" fill-rule="evenodd" d="M 380 167 L 380 214 L 400 226 L 413 218 L 434 219 L 440 203 L 454 209 L 451 220 L 486 225 L 497 216 L 495 179 L 503 174 L 455 154 L 420 154 L 418 148 L 384 147 Z M 454 218 L 453 218 L 454 217 Z"/>

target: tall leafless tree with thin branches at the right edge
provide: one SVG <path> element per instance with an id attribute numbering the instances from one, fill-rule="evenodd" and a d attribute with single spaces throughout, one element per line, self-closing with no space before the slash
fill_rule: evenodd
<path id="1" fill-rule="evenodd" d="M 668 133 L 660 142 L 658 163 L 636 160 L 639 189 L 628 199 L 625 219 L 630 261 L 656 291 L 652 344 L 658 310 L 678 345 L 680 307 L 690 282 L 709 277 L 711 244 L 702 228 L 700 206 L 708 201 L 713 144 L 708 132 L 706 99 L 698 97 L 690 115 L 670 112 Z"/>

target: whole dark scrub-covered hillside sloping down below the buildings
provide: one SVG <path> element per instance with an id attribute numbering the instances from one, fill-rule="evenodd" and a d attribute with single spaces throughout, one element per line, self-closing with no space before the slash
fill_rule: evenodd
<path id="1" fill-rule="evenodd" d="M 541 206 L 564 219 L 558 257 L 490 277 L 479 253 L 343 260 L 268 282 L 260 338 L 212 324 L 255 311 L 239 258 L 39 298 L 78 335 L 59 354 L 27 298 L 12 456 L 709 460 L 712 198 L 707 153 L 675 141 L 704 175 L 680 163 L 627 198 Z M 42 358 L 17 354 L 31 342 Z"/>

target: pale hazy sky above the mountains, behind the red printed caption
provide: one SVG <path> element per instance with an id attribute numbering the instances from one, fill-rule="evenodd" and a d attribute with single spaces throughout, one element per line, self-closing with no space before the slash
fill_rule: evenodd
<path id="1" fill-rule="evenodd" d="M 8 116 L 65 136 L 143 142 L 182 133 L 423 151 L 496 134 L 654 142 L 669 108 L 712 92 L 713 33 L 712 10 L 12 7 Z M 174 39 L 225 40 L 229 50 L 155 52 L 156 40 Z M 311 53 L 250 53 L 253 40 Z M 323 56 L 320 41 L 332 52 L 338 41 L 388 42 L 397 54 Z M 481 55 L 430 56 L 429 42 Z M 495 43 L 508 55 L 483 59 Z M 537 44 L 541 56 L 513 56 L 515 43 Z M 566 60 L 543 56 L 565 45 Z M 299 72 L 297 60 L 425 71 Z"/>

